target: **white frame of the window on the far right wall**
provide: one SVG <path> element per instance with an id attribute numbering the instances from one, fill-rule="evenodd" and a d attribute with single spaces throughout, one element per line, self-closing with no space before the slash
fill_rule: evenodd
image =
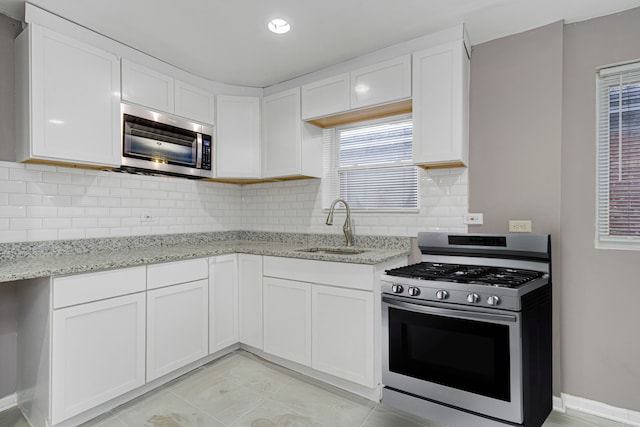
<path id="1" fill-rule="evenodd" d="M 632 81 L 622 83 L 622 75 L 632 73 Z M 640 61 L 602 67 L 596 71 L 596 197 L 595 239 L 596 249 L 640 250 L 640 236 L 612 235 L 609 232 L 610 200 L 610 96 L 609 90 L 616 85 L 609 82 L 619 79 L 618 87 L 640 84 Z M 603 97 L 606 96 L 606 99 Z M 622 97 L 622 93 L 619 95 Z M 622 112 L 619 112 L 622 114 Z M 605 138 L 606 136 L 606 138 Z M 621 143 L 622 144 L 622 143 Z M 640 156 L 639 156 L 640 158 Z M 640 166 L 638 166 L 640 173 Z"/>

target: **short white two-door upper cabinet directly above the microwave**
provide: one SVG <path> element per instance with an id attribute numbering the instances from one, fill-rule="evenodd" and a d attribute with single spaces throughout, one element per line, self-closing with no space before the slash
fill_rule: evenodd
<path id="1" fill-rule="evenodd" d="M 122 60 L 122 99 L 200 123 L 214 122 L 212 93 L 127 59 Z"/>

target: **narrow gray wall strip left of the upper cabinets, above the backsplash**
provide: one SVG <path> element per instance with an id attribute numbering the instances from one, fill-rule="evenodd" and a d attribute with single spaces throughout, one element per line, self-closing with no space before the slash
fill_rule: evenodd
<path id="1" fill-rule="evenodd" d="M 15 159 L 13 39 L 21 29 L 20 22 L 0 14 L 0 160 L 7 161 Z"/>

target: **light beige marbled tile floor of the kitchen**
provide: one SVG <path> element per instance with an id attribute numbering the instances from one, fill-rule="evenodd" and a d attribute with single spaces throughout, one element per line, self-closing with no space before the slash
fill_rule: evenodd
<path id="1" fill-rule="evenodd" d="M 14 408 L 1 427 L 28 427 Z M 119 406 L 92 427 L 444 427 L 321 387 L 246 352 L 216 360 Z M 602 418 L 552 412 L 544 427 L 624 427 Z M 473 426 L 469 426 L 473 427 Z"/>

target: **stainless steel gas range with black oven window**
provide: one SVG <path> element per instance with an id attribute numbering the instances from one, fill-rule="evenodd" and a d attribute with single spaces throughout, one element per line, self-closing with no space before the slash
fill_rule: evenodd
<path id="1" fill-rule="evenodd" d="M 419 233 L 382 276 L 383 402 L 451 427 L 539 427 L 552 408 L 548 235 Z"/>

